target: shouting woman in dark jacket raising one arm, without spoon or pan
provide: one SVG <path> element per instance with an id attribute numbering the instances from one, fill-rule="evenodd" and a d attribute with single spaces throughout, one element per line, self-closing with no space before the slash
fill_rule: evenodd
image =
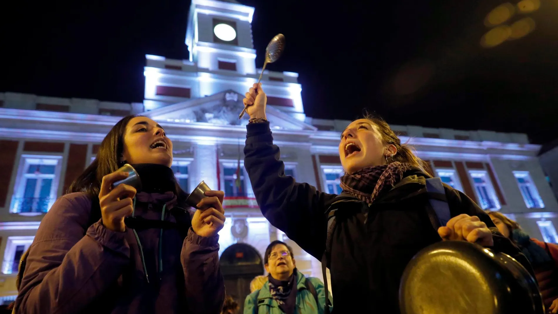
<path id="1" fill-rule="evenodd" d="M 400 279 L 409 260 L 440 241 L 463 240 L 492 247 L 526 262 L 469 197 L 444 185 L 451 219 L 435 230 L 427 214 L 429 197 L 422 161 L 401 144 L 386 122 L 353 121 L 340 134 L 339 158 L 345 170 L 341 195 L 326 194 L 285 176 L 279 148 L 266 120 L 261 85 L 244 98 L 247 125 L 244 166 L 263 215 L 302 249 L 326 261 L 335 294 L 335 311 L 357 312 L 363 305 L 398 313 Z M 328 256 L 325 212 L 335 207 Z M 493 228 L 490 230 L 489 228 Z M 387 310 L 385 310 L 387 309 Z"/>

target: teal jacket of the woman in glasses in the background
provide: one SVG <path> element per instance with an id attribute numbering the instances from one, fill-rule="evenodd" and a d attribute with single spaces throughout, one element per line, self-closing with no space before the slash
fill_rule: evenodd
<path id="1" fill-rule="evenodd" d="M 316 288 L 318 294 L 319 305 L 316 305 L 314 295 L 306 289 L 306 277 L 304 274 L 297 272 L 296 276 L 296 310 L 295 314 L 323 314 L 325 306 L 325 289 L 324 283 L 319 278 L 308 277 L 308 280 Z M 333 298 L 329 294 L 329 311 L 333 311 Z M 252 292 L 244 301 L 244 314 L 283 314 L 283 310 L 271 297 L 269 282 L 263 284 L 263 287 Z"/>

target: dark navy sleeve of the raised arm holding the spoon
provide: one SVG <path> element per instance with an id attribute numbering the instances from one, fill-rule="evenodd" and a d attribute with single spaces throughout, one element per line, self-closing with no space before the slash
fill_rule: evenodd
<path id="1" fill-rule="evenodd" d="M 262 214 L 302 249 L 320 259 L 325 249 L 326 203 L 336 195 L 285 176 L 269 122 L 247 125 L 244 167 Z"/>

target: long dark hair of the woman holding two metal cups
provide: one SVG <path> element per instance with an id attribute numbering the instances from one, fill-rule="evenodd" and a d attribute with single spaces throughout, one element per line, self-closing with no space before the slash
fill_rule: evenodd
<path id="1" fill-rule="evenodd" d="M 117 171 L 118 168 L 124 165 L 120 161 L 124 150 L 124 133 L 126 132 L 128 122 L 136 117 L 143 117 L 143 115 L 128 115 L 114 124 L 114 127 L 110 129 L 103 142 L 101 142 L 95 160 L 71 183 L 67 191 L 68 193 L 86 192 L 92 199 L 99 197 L 103 177 Z M 188 194 L 182 191 L 176 179 L 174 192 L 179 204 L 184 205 L 184 200 L 186 200 Z"/>

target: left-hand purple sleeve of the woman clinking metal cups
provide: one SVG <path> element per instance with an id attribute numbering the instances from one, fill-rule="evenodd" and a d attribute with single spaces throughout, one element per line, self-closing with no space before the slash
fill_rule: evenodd
<path id="1" fill-rule="evenodd" d="M 27 257 L 16 313 L 81 313 L 129 263 L 126 233 L 87 228 L 90 200 L 62 196 L 42 219 Z M 86 230 L 86 234 L 84 236 Z"/>

